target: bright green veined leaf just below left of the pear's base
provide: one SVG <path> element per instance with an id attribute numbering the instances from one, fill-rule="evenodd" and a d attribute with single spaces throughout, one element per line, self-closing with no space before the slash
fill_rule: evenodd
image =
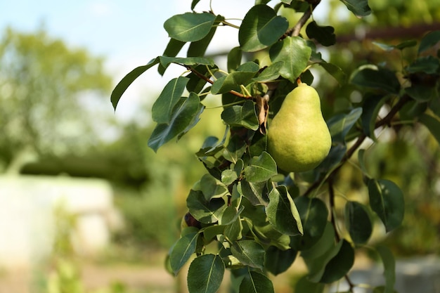
<path id="1" fill-rule="evenodd" d="M 258 157 L 252 157 L 249 166 L 245 168 L 246 180 L 249 182 L 267 181 L 276 174 L 276 162 L 268 152 L 262 152 Z"/>

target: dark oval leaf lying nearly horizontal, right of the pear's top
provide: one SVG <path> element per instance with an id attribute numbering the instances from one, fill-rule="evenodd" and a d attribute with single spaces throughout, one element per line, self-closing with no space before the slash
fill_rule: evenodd
<path id="1" fill-rule="evenodd" d="M 377 68 L 374 65 L 364 65 L 351 74 L 351 84 L 365 86 L 372 89 L 380 89 L 389 93 L 398 94 L 400 82 L 396 74 L 384 68 Z"/>

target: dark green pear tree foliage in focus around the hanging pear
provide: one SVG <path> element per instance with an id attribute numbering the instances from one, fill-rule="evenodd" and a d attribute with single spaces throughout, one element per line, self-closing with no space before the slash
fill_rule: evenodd
<path id="1" fill-rule="evenodd" d="M 299 36 L 319 1 L 283 0 L 274 8 L 266 5 L 268 1 L 256 1 L 237 27 L 240 46 L 228 54 L 226 70 L 206 58 L 205 51 L 218 27 L 235 25 L 213 11 L 196 13 L 198 2 L 193 1 L 193 12 L 174 15 L 164 23 L 171 39 L 163 56 L 127 74 L 111 97 L 116 108 L 129 84 L 155 65 L 160 73 L 172 63 L 185 68 L 186 73 L 169 81 L 153 105 L 157 126 L 148 145 L 156 151 L 198 123 L 208 93 L 221 95 L 226 131 L 223 138 L 206 138 L 196 153 L 207 174 L 188 194 L 189 211 L 183 219 L 186 228 L 171 249 L 169 270 L 179 273 L 195 255 L 188 271 L 191 293 L 216 292 L 225 268 L 231 269 L 235 292 L 266 293 L 273 292 L 268 273 L 283 273 L 300 255 L 309 273 L 295 292 L 322 292 L 325 284 L 341 278 L 347 279 L 352 291 L 355 285 L 347 273 L 353 266 L 355 249 L 365 247 L 370 239 L 374 219 L 380 219 L 389 232 L 401 224 L 404 214 L 399 186 L 369 176 L 365 150 L 358 148 L 365 138 L 377 142 L 376 129 L 403 121 L 425 124 L 440 140 L 440 63 L 438 56 L 424 55 L 440 40 L 440 32 L 422 39 L 417 58 L 403 68 L 405 84 L 396 72 L 379 65 L 365 65 L 353 72 L 348 82 L 363 93 L 361 102 L 328 119 L 332 134 L 328 157 L 316 169 L 294 178 L 278 170 L 266 152 L 267 120 L 278 112 L 298 78 L 309 84 L 313 81 L 311 66 L 323 67 L 341 84 L 347 82 L 344 72 L 316 51 L 316 43 L 335 44 L 332 27 L 312 21 L 306 26 L 309 39 Z M 366 0 L 342 2 L 358 16 L 370 13 Z M 295 27 L 289 28 L 287 20 L 278 15 L 282 6 L 292 13 L 304 13 Z M 186 57 L 176 57 L 186 43 Z M 416 44 L 378 45 L 385 50 L 403 50 Z M 255 51 L 266 51 L 271 64 L 261 66 L 258 60 L 242 63 L 243 53 Z M 389 112 L 380 118 L 379 110 L 384 107 Z M 347 145 L 349 141 L 354 143 Z M 333 184 L 339 169 L 357 150 L 369 203 L 346 198 L 342 225 L 335 219 Z M 302 190 L 300 185 L 307 188 Z M 324 186 L 328 193 L 322 195 Z M 384 263 L 386 281 L 375 292 L 393 292 L 394 258 L 386 247 L 375 251 Z"/>

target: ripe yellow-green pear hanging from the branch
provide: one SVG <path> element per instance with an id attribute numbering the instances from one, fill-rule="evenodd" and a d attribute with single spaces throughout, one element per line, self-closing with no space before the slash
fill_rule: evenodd
<path id="1" fill-rule="evenodd" d="M 300 83 L 288 93 L 267 135 L 268 152 L 280 169 L 302 172 L 318 166 L 330 151 L 332 137 L 316 90 Z"/>

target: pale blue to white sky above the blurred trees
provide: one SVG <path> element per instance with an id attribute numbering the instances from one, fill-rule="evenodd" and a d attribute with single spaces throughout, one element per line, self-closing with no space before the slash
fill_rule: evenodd
<path id="1" fill-rule="evenodd" d="M 42 26 L 70 46 L 104 56 L 107 70 L 117 82 L 134 67 L 162 54 L 168 42 L 164 21 L 190 11 L 190 4 L 191 0 L 0 0 L 0 32 L 6 26 L 22 32 L 34 32 Z M 214 12 L 227 18 L 242 18 L 253 4 L 254 0 L 212 1 Z M 208 9 L 209 0 L 201 0 L 196 7 L 197 11 Z M 238 44 L 235 29 L 222 27 L 217 34 L 213 51 Z M 175 77 L 181 72 L 170 70 L 168 74 Z M 131 115 L 145 93 L 159 92 L 172 77 L 161 78 L 155 69 L 145 72 L 124 94 L 116 115 Z"/>

